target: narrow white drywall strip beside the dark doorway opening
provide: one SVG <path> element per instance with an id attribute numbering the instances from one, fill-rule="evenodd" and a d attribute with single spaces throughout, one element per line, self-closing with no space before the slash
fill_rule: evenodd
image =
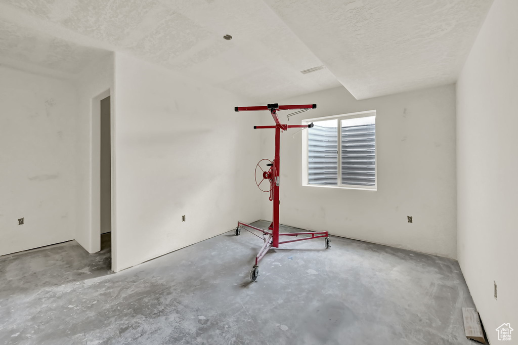
<path id="1" fill-rule="evenodd" d="M 89 253 L 100 250 L 100 99 L 113 88 L 113 54 L 93 61 L 78 76 L 75 239 Z M 100 96 L 102 95 L 103 96 Z M 98 98 L 98 99 L 97 99 Z M 113 100 L 113 97 L 111 97 Z M 94 101 L 96 102 L 94 109 Z M 97 104 L 98 103 L 98 104 Z M 113 175 L 111 177 L 114 178 Z M 113 182 L 112 182 L 113 185 Z M 113 220 L 113 219 L 112 219 Z M 112 243 L 116 240 L 112 232 Z M 113 246 L 114 247 L 114 246 Z M 112 248 L 112 251 L 115 250 Z M 112 261 L 113 264 L 113 261 Z"/>

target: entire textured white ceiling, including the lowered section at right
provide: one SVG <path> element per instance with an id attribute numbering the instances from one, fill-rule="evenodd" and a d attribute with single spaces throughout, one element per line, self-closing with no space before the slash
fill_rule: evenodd
<path id="1" fill-rule="evenodd" d="M 367 98 L 454 82 L 491 2 L 0 0 L 0 62 L 74 75 L 125 51 L 262 103 Z"/>

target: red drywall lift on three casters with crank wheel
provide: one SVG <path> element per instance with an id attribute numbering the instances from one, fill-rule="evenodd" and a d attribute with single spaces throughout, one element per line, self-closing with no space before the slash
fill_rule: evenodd
<path id="1" fill-rule="evenodd" d="M 272 247 L 278 248 L 279 245 L 282 243 L 290 243 L 290 242 L 296 242 L 296 241 L 303 241 L 308 239 L 314 239 L 314 238 L 320 238 L 325 237 L 325 247 L 329 248 L 329 235 L 327 231 L 322 232 L 302 232 L 302 233 L 282 233 L 279 234 L 279 185 L 280 185 L 280 134 L 281 131 L 286 131 L 289 128 L 311 128 L 313 127 L 313 124 L 310 123 L 309 125 L 287 125 L 287 124 L 281 124 L 279 121 L 279 118 L 277 116 L 277 111 L 279 110 L 309 110 L 309 109 L 315 109 L 316 104 L 305 104 L 305 105 L 286 105 L 286 106 L 280 106 L 279 104 L 268 104 L 267 106 L 258 106 L 258 107 L 235 107 L 235 111 L 258 111 L 258 110 L 268 110 L 271 113 L 271 117 L 275 121 L 274 126 L 254 126 L 254 129 L 262 129 L 262 128 L 271 128 L 275 129 L 275 158 L 272 161 L 271 164 L 268 164 L 270 166 L 270 169 L 268 171 L 263 171 L 263 178 L 268 179 L 270 181 L 271 185 L 271 194 L 270 194 L 270 200 L 272 201 L 273 205 L 273 217 L 272 222 L 270 226 L 268 227 L 268 230 L 261 229 L 255 226 L 252 226 L 247 223 L 238 222 L 237 228 L 236 228 L 236 235 L 239 235 L 241 230 L 240 227 L 250 228 L 255 231 L 263 233 L 264 238 L 264 245 L 255 256 L 255 265 L 252 268 L 252 271 L 250 272 L 250 279 L 255 280 L 257 279 L 257 276 L 259 275 L 259 261 L 263 258 L 263 256 L 268 252 L 268 250 Z M 258 165 L 258 164 L 257 164 Z M 295 236 L 298 237 L 299 235 L 309 235 L 311 237 L 303 237 L 303 238 L 297 238 L 292 240 L 286 240 L 279 242 L 279 236 Z"/>

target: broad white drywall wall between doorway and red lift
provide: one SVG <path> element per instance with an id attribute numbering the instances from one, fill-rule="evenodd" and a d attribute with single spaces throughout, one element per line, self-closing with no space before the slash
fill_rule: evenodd
<path id="1" fill-rule="evenodd" d="M 114 270 L 260 218 L 250 102 L 116 53 Z"/>

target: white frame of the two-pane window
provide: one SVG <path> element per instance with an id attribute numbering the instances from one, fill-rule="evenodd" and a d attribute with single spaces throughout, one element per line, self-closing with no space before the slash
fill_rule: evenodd
<path id="1" fill-rule="evenodd" d="M 341 137 L 342 137 L 342 126 L 341 126 L 341 120 L 351 120 L 351 119 L 358 119 L 358 118 L 367 118 L 374 116 L 374 124 L 376 125 L 376 110 L 367 110 L 367 111 L 359 111 L 359 112 L 353 112 L 349 114 L 341 114 L 341 115 L 333 115 L 333 116 L 325 116 L 321 118 L 314 118 L 314 119 L 306 119 L 302 120 L 302 124 L 310 124 L 311 122 L 316 121 L 325 121 L 325 120 L 338 120 L 338 185 L 324 185 L 324 184 L 309 184 L 308 183 L 308 131 L 302 131 L 302 185 L 307 187 L 323 187 L 323 188 L 340 188 L 340 189 L 361 189 L 361 190 L 368 190 L 368 191 L 377 191 L 378 190 L 378 128 L 376 126 L 376 132 L 375 132 L 375 168 L 374 168 L 374 185 L 355 185 L 355 184 L 342 184 L 342 143 L 341 143 Z"/>

